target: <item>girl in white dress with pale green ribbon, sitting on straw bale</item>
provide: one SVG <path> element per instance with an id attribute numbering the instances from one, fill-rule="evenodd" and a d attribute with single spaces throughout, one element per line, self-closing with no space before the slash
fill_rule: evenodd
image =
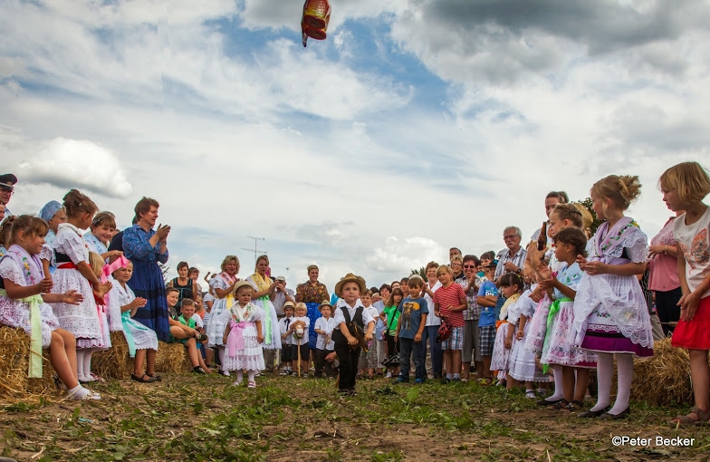
<path id="1" fill-rule="evenodd" d="M 13 245 L 0 260 L 0 324 L 22 328 L 30 336 L 29 377 L 42 377 L 43 358 L 38 352 L 46 348 L 69 398 L 101 399 L 100 395 L 79 384 L 76 341 L 71 332 L 59 327 L 52 307 L 47 304 L 75 306 L 82 301 L 82 294 L 76 291 L 47 294 L 53 283 L 43 273 L 39 254 L 48 229 L 41 218 L 24 215 L 14 221 Z"/>

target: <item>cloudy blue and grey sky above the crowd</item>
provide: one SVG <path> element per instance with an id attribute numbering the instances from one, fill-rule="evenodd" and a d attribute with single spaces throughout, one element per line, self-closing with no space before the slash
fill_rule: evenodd
<path id="1" fill-rule="evenodd" d="M 79 188 L 123 227 L 155 197 L 173 267 L 246 276 L 255 236 L 292 287 L 379 285 L 611 173 L 653 236 L 662 171 L 710 167 L 708 1 L 331 0 L 307 48 L 301 0 L 0 5 L 10 208 Z"/>

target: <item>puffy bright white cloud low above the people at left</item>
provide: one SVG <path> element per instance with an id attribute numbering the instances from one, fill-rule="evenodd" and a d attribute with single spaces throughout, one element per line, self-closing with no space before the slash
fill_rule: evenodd
<path id="1" fill-rule="evenodd" d="M 18 175 L 28 183 L 86 188 L 109 197 L 129 197 L 133 189 L 119 159 L 88 140 L 52 140 L 20 164 Z"/>

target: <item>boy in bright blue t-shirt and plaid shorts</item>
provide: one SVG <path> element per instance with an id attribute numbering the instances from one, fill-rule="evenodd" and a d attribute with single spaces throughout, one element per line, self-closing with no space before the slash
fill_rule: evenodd
<path id="1" fill-rule="evenodd" d="M 476 302 L 481 307 L 481 317 L 478 319 L 478 327 L 480 328 L 479 351 L 481 351 L 481 359 L 484 361 L 484 377 L 483 383 L 486 385 L 493 384 L 493 376 L 491 375 L 491 357 L 493 356 L 493 345 L 495 342 L 495 305 L 498 303 L 498 287 L 495 286 L 494 275 L 497 261 L 493 261 L 484 266 L 484 275 L 487 281 L 481 284 L 478 289 Z"/>

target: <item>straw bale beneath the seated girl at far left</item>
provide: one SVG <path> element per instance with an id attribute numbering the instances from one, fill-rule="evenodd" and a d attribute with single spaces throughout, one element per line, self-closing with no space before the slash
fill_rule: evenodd
<path id="1" fill-rule="evenodd" d="M 27 377 L 30 337 L 22 329 L 0 327 L 0 398 L 25 398 L 28 395 L 59 395 L 53 380 L 54 370 L 46 351 L 42 379 Z"/>

